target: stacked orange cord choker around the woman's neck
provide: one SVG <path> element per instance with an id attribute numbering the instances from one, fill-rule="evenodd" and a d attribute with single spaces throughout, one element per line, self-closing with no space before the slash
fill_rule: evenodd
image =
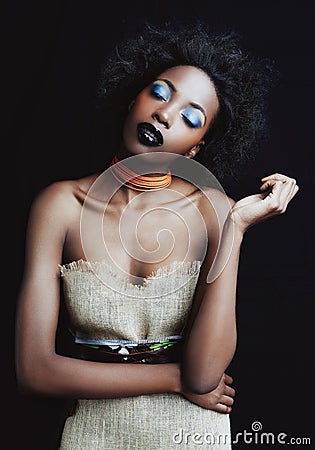
<path id="1" fill-rule="evenodd" d="M 160 176 L 138 175 L 125 166 L 117 156 L 114 156 L 112 159 L 110 169 L 119 183 L 135 191 L 157 191 L 167 188 L 172 182 L 172 174 L 170 171 Z"/>

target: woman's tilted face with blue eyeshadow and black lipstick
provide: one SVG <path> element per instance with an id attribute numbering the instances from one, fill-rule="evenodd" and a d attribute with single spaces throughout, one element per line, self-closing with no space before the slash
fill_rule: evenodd
<path id="1" fill-rule="evenodd" d="M 129 155 L 158 151 L 188 156 L 195 148 L 196 153 L 218 106 L 205 72 L 172 67 L 136 97 L 124 125 L 122 150 Z"/>

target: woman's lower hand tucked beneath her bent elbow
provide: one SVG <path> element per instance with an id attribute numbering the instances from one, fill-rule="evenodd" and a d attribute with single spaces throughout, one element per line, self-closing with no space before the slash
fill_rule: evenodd
<path id="1" fill-rule="evenodd" d="M 183 391 L 182 395 L 202 408 L 212 409 L 222 414 L 230 414 L 235 396 L 235 390 L 230 386 L 232 383 L 233 378 L 224 373 L 218 386 L 208 394 L 198 395 Z"/>

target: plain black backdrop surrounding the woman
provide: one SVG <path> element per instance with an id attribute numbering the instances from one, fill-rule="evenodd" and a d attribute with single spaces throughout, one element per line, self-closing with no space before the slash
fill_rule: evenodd
<path id="1" fill-rule="evenodd" d="M 260 421 L 263 431 L 312 437 L 314 445 L 311 4 L 93 0 L 2 6 L 3 292 L 8 294 L 2 296 L 6 417 L 1 422 L 7 448 L 55 449 L 62 424 L 62 400 L 21 395 L 15 384 L 14 319 L 30 202 L 51 181 L 100 169 L 96 163 L 102 155 L 106 160 L 106 135 L 94 108 L 99 64 L 144 19 L 159 24 L 172 17 L 233 28 L 245 47 L 273 59 L 280 71 L 270 99 L 268 142 L 238 179 L 223 180 L 236 200 L 257 192 L 260 178 L 273 172 L 296 178 L 300 186 L 285 215 L 250 229 L 242 247 L 238 348 L 228 371 L 236 389 L 231 424 L 234 436 Z M 236 448 L 256 446 L 263 447 Z"/>

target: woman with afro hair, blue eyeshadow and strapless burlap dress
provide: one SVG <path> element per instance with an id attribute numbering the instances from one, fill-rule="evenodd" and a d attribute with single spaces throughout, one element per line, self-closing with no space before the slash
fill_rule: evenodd
<path id="1" fill-rule="evenodd" d="M 31 208 L 19 384 L 78 399 L 61 450 L 230 448 L 241 243 L 298 187 L 272 174 L 235 202 L 206 168 L 227 173 L 253 149 L 268 73 L 197 25 L 149 27 L 102 75 L 110 167 L 53 183 Z M 55 349 L 60 282 L 74 357 Z"/>

